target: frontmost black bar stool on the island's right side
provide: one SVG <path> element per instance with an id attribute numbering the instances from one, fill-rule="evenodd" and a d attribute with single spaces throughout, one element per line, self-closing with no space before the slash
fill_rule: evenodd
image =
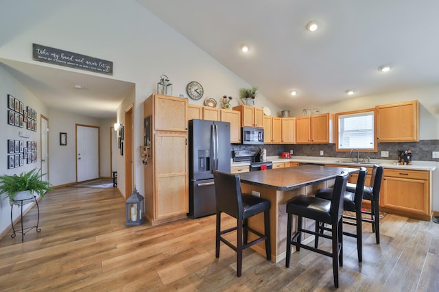
<path id="1" fill-rule="evenodd" d="M 296 245 L 296 250 L 300 251 L 300 247 L 305 250 L 311 250 L 332 257 L 334 285 L 338 288 L 338 266 L 343 265 L 343 200 L 342 194 L 346 191 L 346 183 L 348 181 L 349 173 L 343 171 L 335 178 L 335 185 L 331 201 L 321 199 L 318 197 L 311 197 L 307 195 L 298 195 L 287 202 L 287 258 L 285 259 L 285 267 L 289 267 L 291 258 L 291 246 Z M 292 236 L 292 215 L 297 215 L 297 232 Z M 331 235 L 317 234 L 311 230 L 302 228 L 302 217 L 313 219 L 319 222 L 331 224 Z M 332 240 L 332 252 L 319 250 L 316 247 L 311 247 L 301 243 L 302 232 L 313 234 L 314 236 L 322 236 Z"/>

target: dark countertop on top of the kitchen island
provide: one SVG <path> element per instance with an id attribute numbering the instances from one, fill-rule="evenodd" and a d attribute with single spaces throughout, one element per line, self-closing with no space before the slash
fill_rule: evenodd
<path id="1" fill-rule="evenodd" d="M 276 191 L 291 191 L 316 182 L 331 180 L 342 171 L 356 173 L 359 168 L 300 165 L 299 167 L 270 169 L 268 171 L 250 171 L 240 173 L 239 176 L 241 183 L 274 188 Z"/>

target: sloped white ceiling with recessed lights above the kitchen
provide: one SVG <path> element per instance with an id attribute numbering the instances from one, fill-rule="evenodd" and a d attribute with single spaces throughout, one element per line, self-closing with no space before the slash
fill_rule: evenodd
<path id="1" fill-rule="evenodd" d="M 437 0 L 138 1 L 280 108 L 439 82 Z"/>

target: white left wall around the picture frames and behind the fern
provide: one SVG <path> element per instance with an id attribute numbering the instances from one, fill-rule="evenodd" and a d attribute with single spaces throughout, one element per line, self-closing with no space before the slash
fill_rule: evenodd
<path id="1" fill-rule="evenodd" d="M 24 106 L 30 106 L 34 110 L 36 110 L 38 114 L 38 123 L 37 123 L 37 131 L 33 132 L 27 130 L 26 127 L 16 127 L 14 125 L 8 125 L 8 94 L 13 95 L 16 99 L 19 99 L 23 102 Z M 40 168 L 40 114 L 44 114 L 46 117 L 48 116 L 47 107 L 41 103 L 39 99 L 37 99 L 32 93 L 16 81 L 12 75 L 5 69 L 3 64 L 0 64 L 0 121 L 1 121 L 1 143 L 0 143 L 0 174 L 14 175 L 23 172 L 30 171 L 34 168 Z M 19 136 L 19 132 L 24 132 L 29 135 L 29 138 L 23 138 Z M 37 149 L 38 149 L 38 161 L 32 164 L 26 164 L 22 167 L 17 167 L 15 169 L 8 169 L 7 159 L 8 159 L 8 149 L 7 149 L 7 141 L 10 140 L 20 140 L 20 141 L 36 141 Z M 30 205 L 27 205 L 23 208 L 23 210 L 27 210 Z M 0 199 L 0 234 L 10 228 L 10 204 L 8 199 L 3 198 L 1 195 Z M 13 219 L 19 217 L 20 212 L 19 208 L 14 207 Z"/>

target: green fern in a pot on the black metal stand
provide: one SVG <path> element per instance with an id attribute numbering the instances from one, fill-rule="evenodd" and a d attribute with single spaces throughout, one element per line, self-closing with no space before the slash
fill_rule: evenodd
<path id="1" fill-rule="evenodd" d="M 41 180 L 45 174 L 39 174 L 39 169 L 23 171 L 20 175 L 0 175 L 0 194 L 14 200 L 32 199 L 34 194 L 44 197 L 46 191 L 52 190 L 49 182 Z"/>

